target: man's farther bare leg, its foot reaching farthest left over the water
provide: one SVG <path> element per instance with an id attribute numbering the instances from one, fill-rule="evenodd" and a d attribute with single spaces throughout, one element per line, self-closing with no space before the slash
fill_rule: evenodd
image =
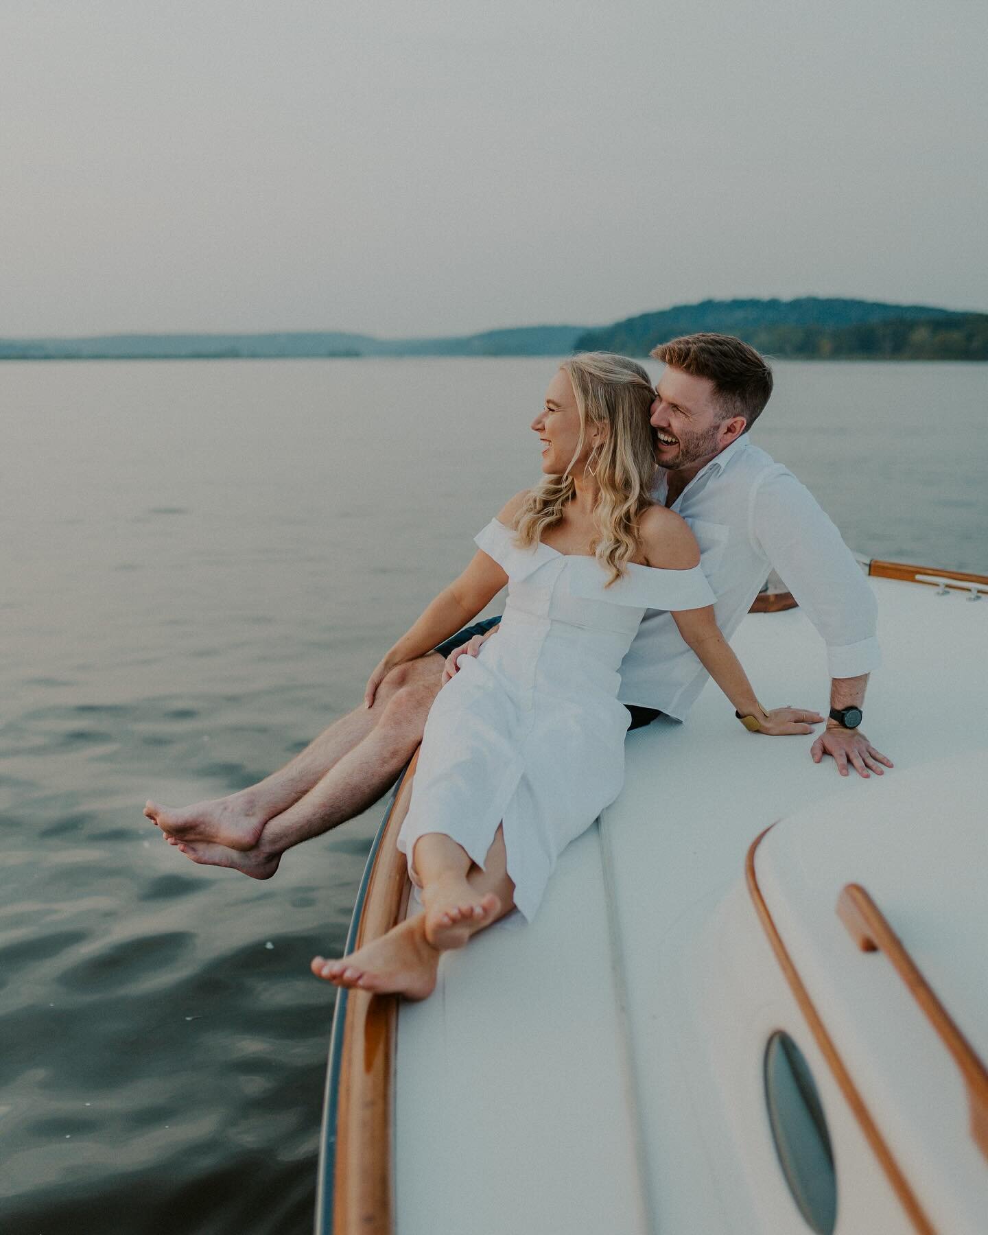
<path id="1" fill-rule="evenodd" d="M 272 819 L 294 806 L 310 789 L 319 784 L 329 771 L 353 752 L 382 721 L 385 721 L 385 716 L 387 724 L 394 722 L 394 709 L 388 715 L 388 705 L 398 695 L 409 693 L 417 695 L 425 688 L 426 690 L 431 689 L 432 698 L 435 698 L 441 674 L 442 658 L 435 653 L 410 664 L 401 664 L 382 682 L 373 708 L 354 708 L 324 730 L 285 767 L 257 784 L 231 793 L 225 798 L 200 802 L 180 809 L 148 802 L 144 806 L 144 815 L 163 832 L 173 837 L 173 844 L 180 840 L 209 841 L 230 848 L 251 850 L 257 845 L 261 834 Z M 426 708 L 427 710 L 429 708 Z M 371 799 L 353 814 L 359 814 L 375 800 L 375 798 Z M 352 815 L 343 818 L 348 819 Z M 342 819 L 337 819 L 336 823 L 342 823 Z M 329 826 L 335 825 L 330 824 Z"/>

